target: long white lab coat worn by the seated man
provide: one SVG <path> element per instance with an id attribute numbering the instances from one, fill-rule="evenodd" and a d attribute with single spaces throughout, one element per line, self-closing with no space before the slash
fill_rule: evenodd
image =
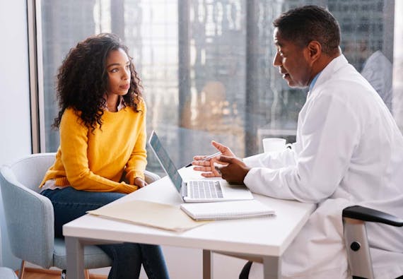
<path id="1" fill-rule="evenodd" d="M 403 137 L 379 95 L 341 55 L 322 71 L 298 117 L 293 150 L 245 158 L 258 194 L 317 203 L 282 257 L 284 278 L 348 278 L 341 210 L 403 217 Z M 403 230 L 368 224 L 375 278 L 403 275 Z M 254 263 L 250 278 L 262 277 Z"/>

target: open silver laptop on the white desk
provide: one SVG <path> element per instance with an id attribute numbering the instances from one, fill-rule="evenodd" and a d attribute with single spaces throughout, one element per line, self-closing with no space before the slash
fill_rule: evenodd
<path id="1" fill-rule="evenodd" d="M 253 199 L 252 193 L 245 185 L 229 184 L 223 179 L 200 179 L 184 182 L 155 131 L 151 133 L 148 144 L 185 203 Z"/>

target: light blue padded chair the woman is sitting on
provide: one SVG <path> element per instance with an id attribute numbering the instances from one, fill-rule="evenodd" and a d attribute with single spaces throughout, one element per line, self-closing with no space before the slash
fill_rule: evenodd
<path id="1" fill-rule="evenodd" d="M 62 278 L 66 275 L 66 245 L 64 239 L 54 237 L 52 202 L 39 194 L 38 187 L 54 158 L 55 153 L 33 154 L 0 169 L 1 194 L 11 251 L 22 260 L 18 276 L 20 279 L 23 278 L 25 261 L 43 268 L 55 266 L 62 269 Z M 160 178 L 148 171 L 145 176 L 148 184 Z M 99 247 L 85 247 L 84 267 L 87 270 L 111 264 L 110 258 Z"/>

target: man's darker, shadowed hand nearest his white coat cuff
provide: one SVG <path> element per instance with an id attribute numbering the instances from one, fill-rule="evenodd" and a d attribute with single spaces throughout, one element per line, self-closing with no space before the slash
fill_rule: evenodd
<path id="1" fill-rule="evenodd" d="M 217 167 L 217 169 L 221 172 L 223 179 L 233 184 L 243 184 L 243 180 L 250 170 L 250 167 L 247 167 L 243 160 L 236 157 L 221 156 L 218 158 L 218 163 L 226 164 L 223 167 Z"/>

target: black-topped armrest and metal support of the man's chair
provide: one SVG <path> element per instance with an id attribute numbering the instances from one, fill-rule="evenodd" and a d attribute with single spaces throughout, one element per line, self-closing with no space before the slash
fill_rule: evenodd
<path id="1" fill-rule="evenodd" d="M 380 222 L 402 227 L 403 220 L 394 215 L 363 206 L 350 206 L 343 210 L 344 243 L 349 268 L 354 279 L 373 279 L 365 222 Z"/>

